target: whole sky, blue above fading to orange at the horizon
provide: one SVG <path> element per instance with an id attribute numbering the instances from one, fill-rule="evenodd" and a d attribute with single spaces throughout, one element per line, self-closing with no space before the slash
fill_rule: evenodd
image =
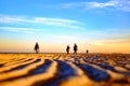
<path id="1" fill-rule="evenodd" d="M 0 52 L 130 54 L 130 0 L 0 0 Z"/>

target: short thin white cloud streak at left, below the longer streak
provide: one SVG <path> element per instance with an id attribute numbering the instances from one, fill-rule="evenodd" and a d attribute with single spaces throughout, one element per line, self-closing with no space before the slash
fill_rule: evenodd
<path id="1" fill-rule="evenodd" d="M 34 33 L 35 29 L 31 28 L 16 28 L 16 27 L 0 27 L 0 30 L 13 31 L 13 32 L 24 32 L 24 33 Z"/>

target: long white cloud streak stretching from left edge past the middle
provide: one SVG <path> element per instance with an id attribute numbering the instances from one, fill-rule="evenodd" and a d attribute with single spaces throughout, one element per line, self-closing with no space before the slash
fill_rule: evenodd
<path id="1" fill-rule="evenodd" d="M 80 22 L 64 18 L 50 18 L 50 17 L 21 17 L 21 16 L 8 16 L 0 15 L 0 24 L 31 24 L 31 25 L 48 25 L 60 26 L 67 28 L 81 28 Z"/>

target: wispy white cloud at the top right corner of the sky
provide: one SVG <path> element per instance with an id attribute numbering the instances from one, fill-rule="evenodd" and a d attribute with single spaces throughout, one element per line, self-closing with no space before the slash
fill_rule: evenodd
<path id="1" fill-rule="evenodd" d="M 62 3 L 61 8 L 64 9 L 80 8 L 82 10 L 110 8 L 113 10 L 130 12 L 130 0 L 109 0 L 107 2 L 84 1 L 84 2 Z"/>

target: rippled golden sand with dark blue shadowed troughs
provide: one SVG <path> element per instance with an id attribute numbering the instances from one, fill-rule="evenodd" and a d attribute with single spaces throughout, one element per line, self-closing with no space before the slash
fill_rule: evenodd
<path id="1" fill-rule="evenodd" d="M 0 86 L 130 86 L 130 55 L 0 54 Z"/>

